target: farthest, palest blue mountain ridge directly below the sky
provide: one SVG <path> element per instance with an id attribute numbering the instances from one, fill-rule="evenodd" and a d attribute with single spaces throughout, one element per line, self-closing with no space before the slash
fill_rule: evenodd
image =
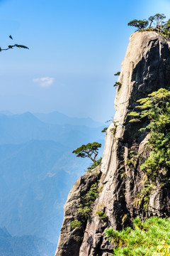
<path id="1" fill-rule="evenodd" d="M 75 146 L 92 142 L 97 137 L 102 139 L 101 129 L 102 125 L 92 128 L 76 124 L 45 123 L 30 112 L 8 116 L 1 114 L 0 144 L 20 144 L 31 139 L 38 139 L 60 142 L 74 149 Z"/>

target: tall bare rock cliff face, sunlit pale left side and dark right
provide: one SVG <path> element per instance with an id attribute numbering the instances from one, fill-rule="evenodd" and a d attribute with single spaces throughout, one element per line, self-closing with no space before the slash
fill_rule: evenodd
<path id="1" fill-rule="evenodd" d="M 145 124 L 128 122 L 128 113 L 134 110 L 137 100 L 147 97 L 149 93 L 160 87 L 170 86 L 169 47 L 170 43 L 156 32 L 136 32 L 130 36 L 118 79 L 120 84 L 115 97 L 116 113 L 113 123 L 106 132 L 101 170 L 85 174 L 72 188 L 64 208 L 64 223 L 56 256 L 111 255 L 113 248 L 104 235 L 107 227 L 112 226 L 119 230 L 131 225 L 132 218 L 137 215 L 146 217 L 170 214 L 169 183 L 162 188 L 161 183 L 157 181 L 157 187 L 149 196 L 147 210 L 143 210 L 143 202 L 139 203 L 137 199 L 144 186 L 142 182 L 144 174 L 140 170 L 140 164 L 148 154 L 145 150 L 147 135 L 139 132 L 140 127 Z M 134 142 L 140 157 L 133 166 L 130 166 L 127 164 L 127 157 Z M 90 183 L 94 183 L 95 175 L 98 176 L 97 179 L 100 178 L 99 192 L 91 217 L 84 222 L 83 230 L 72 230 L 69 220 L 77 218 L 81 191 L 86 193 Z M 75 197 L 77 203 L 74 201 Z M 105 220 L 98 217 L 96 214 L 98 210 L 107 215 Z M 79 233 L 81 241 L 73 240 L 75 232 Z"/>

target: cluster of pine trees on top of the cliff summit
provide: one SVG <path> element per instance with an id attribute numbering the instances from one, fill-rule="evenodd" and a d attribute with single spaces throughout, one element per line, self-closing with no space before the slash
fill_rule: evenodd
<path id="1" fill-rule="evenodd" d="M 128 23 L 128 26 L 135 26 L 137 31 L 157 31 L 164 38 L 170 39 L 170 19 L 164 21 L 165 18 L 166 16 L 164 14 L 155 14 L 154 16 L 150 16 L 148 20 L 134 19 Z"/>

